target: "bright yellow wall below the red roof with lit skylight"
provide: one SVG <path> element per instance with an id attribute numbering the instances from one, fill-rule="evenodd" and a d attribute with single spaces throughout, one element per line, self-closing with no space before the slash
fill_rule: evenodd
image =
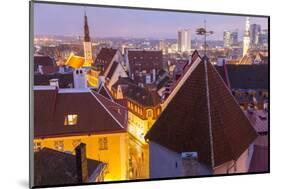
<path id="1" fill-rule="evenodd" d="M 87 158 L 107 164 L 104 181 L 128 179 L 128 134 L 99 134 L 34 139 L 34 151 L 44 147 L 75 154 L 81 142 L 86 144 Z"/>

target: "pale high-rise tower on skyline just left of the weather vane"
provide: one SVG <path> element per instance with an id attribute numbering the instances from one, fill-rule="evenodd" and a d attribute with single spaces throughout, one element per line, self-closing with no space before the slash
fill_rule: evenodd
<path id="1" fill-rule="evenodd" d="M 180 52 L 189 52 L 191 50 L 190 29 L 181 29 L 178 31 L 178 50 Z"/>

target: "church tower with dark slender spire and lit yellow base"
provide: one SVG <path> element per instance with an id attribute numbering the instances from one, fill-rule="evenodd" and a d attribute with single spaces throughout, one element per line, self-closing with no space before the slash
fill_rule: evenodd
<path id="1" fill-rule="evenodd" d="M 85 12 L 84 15 L 84 58 L 85 62 L 83 66 L 91 66 L 93 63 L 93 55 L 92 55 L 92 43 L 90 38 L 90 31 L 88 26 L 88 18 Z"/>

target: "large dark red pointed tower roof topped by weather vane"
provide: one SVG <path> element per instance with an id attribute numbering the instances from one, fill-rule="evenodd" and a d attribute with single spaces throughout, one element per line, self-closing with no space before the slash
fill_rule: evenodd
<path id="1" fill-rule="evenodd" d="M 237 160 L 257 134 L 208 58 L 197 56 L 178 85 L 145 138 L 212 168 Z"/>

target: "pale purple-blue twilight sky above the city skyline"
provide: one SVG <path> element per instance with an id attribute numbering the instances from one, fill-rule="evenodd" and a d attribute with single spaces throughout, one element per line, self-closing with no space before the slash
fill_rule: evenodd
<path id="1" fill-rule="evenodd" d="M 207 20 L 207 29 L 213 30 L 211 39 L 222 40 L 223 31 L 238 30 L 242 38 L 244 16 L 210 15 L 154 10 L 132 10 L 86 7 L 91 38 L 136 37 L 177 38 L 177 30 L 195 30 Z M 79 5 L 34 4 L 35 35 L 83 35 L 84 7 Z M 251 23 L 267 29 L 267 18 L 251 17 Z"/>

